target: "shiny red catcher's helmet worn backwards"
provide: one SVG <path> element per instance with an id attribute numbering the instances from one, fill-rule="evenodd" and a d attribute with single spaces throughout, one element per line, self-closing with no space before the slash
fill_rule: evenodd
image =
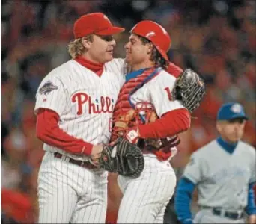
<path id="1" fill-rule="evenodd" d="M 171 37 L 162 25 L 150 20 L 138 22 L 130 31 L 131 34 L 138 34 L 150 40 L 162 57 L 168 60 L 167 52 L 171 47 Z"/>

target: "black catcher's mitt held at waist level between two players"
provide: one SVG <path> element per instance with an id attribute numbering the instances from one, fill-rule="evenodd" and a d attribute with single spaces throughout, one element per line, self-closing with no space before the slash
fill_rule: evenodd
<path id="1" fill-rule="evenodd" d="M 104 146 L 99 167 L 109 172 L 138 178 L 144 169 L 144 157 L 138 146 L 119 137 L 115 143 Z"/>

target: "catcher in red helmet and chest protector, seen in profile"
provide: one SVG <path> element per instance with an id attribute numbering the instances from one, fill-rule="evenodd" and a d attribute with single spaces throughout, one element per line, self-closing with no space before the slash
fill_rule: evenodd
<path id="1" fill-rule="evenodd" d="M 148 20 L 139 22 L 130 33 L 125 49 L 132 72 L 126 75 L 115 105 L 112 140 L 121 135 L 137 143 L 138 138 L 172 137 L 186 131 L 190 125 L 189 111 L 182 102 L 171 98 L 174 82 L 182 70 L 173 66 L 171 75 L 164 70 L 168 66 L 166 52 L 171 44 L 168 33 L 161 25 Z M 142 109 L 152 106 L 160 119 L 121 131 L 118 124 L 139 105 Z M 175 155 L 176 148 L 166 146 L 157 152 L 141 149 L 145 165 L 139 178 L 118 176 L 124 194 L 118 223 L 163 223 L 165 207 L 174 193 L 176 176 L 169 160 Z"/>

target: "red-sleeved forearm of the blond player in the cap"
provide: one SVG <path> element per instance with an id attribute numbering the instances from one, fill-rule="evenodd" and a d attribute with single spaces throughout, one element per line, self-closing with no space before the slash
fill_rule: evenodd
<path id="1" fill-rule="evenodd" d="M 40 110 L 37 114 L 37 137 L 50 146 L 66 152 L 91 155 L 93 145 L 72 137 L 58 127 L 58 114 L 50 110 Z"/>

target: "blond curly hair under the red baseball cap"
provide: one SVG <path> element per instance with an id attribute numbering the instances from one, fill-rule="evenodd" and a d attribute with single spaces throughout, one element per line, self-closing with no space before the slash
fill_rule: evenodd
<path id="1" fill-rule="evenodd" d="M 92 35 L 88 35 L 86 37 L 82 37 L 85 38 L 88 41 L 93 41 L 93 36 Z M 85 46 L 82 44 L 82 38 L 77 38 L 73 41 L 70 41 L 70 43 L 68 44 L 68 52 L 70 53 L 70 56 L 75 59 L 77 56 L 82 55 L 83 53 L 85 53 L 87 51 L 87 49 L 85 48 Z"/>

